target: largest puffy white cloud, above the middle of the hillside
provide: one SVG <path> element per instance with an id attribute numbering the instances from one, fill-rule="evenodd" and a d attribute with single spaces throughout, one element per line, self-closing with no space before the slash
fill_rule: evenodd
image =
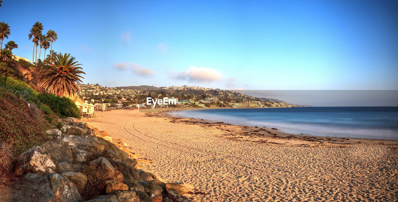
<path id="1" fill-rule="evenodd" d="M 195 67 L 193 65 L 191 65 L 187 70 L 181 71 L 173 77 L 181 80 L 207 83 L 222 80 L 221 74 L 217 69 L 212 69 L 209 67 Z"/>

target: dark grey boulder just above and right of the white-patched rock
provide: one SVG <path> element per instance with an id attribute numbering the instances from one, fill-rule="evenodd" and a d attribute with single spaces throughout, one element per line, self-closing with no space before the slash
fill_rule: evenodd
<path id="1" fill-rule="evenodd" d="M 55 161 L 72 162 L 73 155 L 68 142 L 46 141 L 40 147 L 48 152 Z"/>

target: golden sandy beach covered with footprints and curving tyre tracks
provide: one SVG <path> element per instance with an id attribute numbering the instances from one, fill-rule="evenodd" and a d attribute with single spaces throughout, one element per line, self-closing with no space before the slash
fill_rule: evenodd
<path id="1" fill-rule="evenodd" d="M 82 119 L 194 185 L 193 201 L 395 201 L 398 141 L 290 135 L 265 127 L 113 110 Z"/>

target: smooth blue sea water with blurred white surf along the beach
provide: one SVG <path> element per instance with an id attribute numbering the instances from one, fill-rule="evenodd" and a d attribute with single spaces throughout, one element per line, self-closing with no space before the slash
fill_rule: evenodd
<path id="1" fill-rule="evenodd" d="M 398 107 L 296 107 L 170 112 L 180 117 L 273 127 L 315 136 L 398 140 Z"/>

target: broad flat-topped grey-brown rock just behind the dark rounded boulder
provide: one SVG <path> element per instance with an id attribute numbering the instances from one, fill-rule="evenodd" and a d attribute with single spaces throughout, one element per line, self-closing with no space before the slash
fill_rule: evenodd
<path id="1" fill-rule="evenodd" d="M 104 146 L 98 141 L 95 136 L 74 136 L 74 135 L 64 135 L 62 141 L 68 142 L 70 148 L 79 148 L 86 152 L 100 153 L 103 151 Z"/>

